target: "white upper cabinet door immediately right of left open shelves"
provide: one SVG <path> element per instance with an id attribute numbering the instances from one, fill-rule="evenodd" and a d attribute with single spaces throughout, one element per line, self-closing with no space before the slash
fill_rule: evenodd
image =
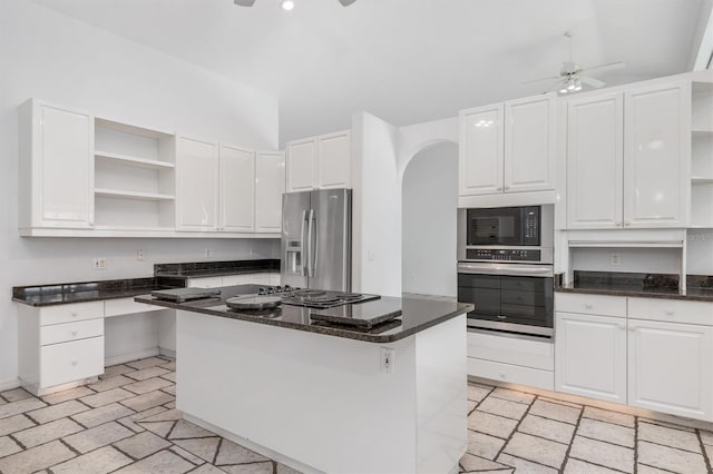
<path id="1" fill-rule="evenodd" d="M 218 146 L 176 140 L 176 229 L 216 230 L 218 225 Z"/>

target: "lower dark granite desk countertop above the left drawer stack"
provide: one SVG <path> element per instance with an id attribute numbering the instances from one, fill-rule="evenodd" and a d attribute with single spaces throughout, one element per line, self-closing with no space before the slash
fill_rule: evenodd
<path id="1" fill-rule="evenodd" d="M 29 306 L 52 306 L 70 303 L 129 298 L 154 289 L 175 288 L 182 282 L 172 278 L 149 277 L 111 279 L 102 282 L 62 283 L 56 285 L 16 286 L 12 300 Z"/>

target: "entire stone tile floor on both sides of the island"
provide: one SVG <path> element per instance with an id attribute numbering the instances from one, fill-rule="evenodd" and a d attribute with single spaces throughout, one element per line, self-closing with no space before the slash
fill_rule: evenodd
<path id="1" fill-rule="evenodd" d="M 85 387 L 0 393 L 0 474 L 295 474 L 182 419 L 175 362 L 107 367 Z M 713 432 L 471 384 L 461 472 L 712 473 Z"/>

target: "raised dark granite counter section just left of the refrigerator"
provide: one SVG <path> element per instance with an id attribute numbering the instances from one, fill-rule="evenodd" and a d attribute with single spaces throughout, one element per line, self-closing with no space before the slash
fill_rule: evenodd
<path id="1" fill-rule="evenodd" d="M 183 279 L 274 271 L 280 271 L 280 259 L 277 258 L 154 265 L 155 276 Z"/>

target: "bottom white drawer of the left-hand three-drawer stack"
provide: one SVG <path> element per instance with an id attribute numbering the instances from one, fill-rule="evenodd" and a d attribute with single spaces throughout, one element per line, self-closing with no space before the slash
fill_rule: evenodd
<path id="1" fill-rule="evenodd" d="M 104 336 L 40 347 L 40 387 L 104 373 Z"/>

